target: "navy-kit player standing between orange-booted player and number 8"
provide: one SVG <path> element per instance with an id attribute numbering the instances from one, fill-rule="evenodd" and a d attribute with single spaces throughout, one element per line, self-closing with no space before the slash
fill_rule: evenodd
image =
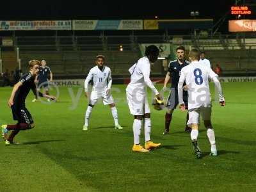
<path id="1" fill-rule="evenodd" d="M 185 60 L 185 47 L 179 46 L 176 49 L 177 54 L 177 60 L 171 61 L 168 66 L 168 72 L 166 74 L 166 77 L 164 79 L 164 87 L 163 90 L 166 90 L 166 86 L 168 84 L 168 81 L 171 79 L 171 92 L 168 97 L 167 103 L 166 103 L 166 114 L 165 114 L 165 128 L 163 134 L 168 134 L 170 129 L 170 124 L 172 121 L 172 113 L 176 106 L 179 104 L 179 98 L 178 98 L 178 83 L 180 78 L 180 71 L 183 67 L 189 65 L 189 61 Z M 186 89 L 186 84 L 184 83 L 184 89 Z M 183 99 L 188 107 L 188 92 L 183 92 Z M 188 114 L 187 114 L 187 122 L 188 122 Z M 186 132 L 190 132 L 191 128 L 186 125 L 185 127 Z"/>

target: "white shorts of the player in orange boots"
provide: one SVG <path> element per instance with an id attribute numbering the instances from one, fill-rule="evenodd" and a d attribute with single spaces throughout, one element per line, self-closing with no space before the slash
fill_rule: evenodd
<path id="1" fill-rule="evenodd" d="M 150 113 L 147 93 L 144 89 L 126 89 L 126 99 L 131 115 L 144 115 Z"/>

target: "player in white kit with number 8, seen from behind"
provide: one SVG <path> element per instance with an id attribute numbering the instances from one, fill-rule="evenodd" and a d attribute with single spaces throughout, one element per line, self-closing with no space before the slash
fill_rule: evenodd
<path id="1" fill-rule="evenodd" d="M 182 111 L 185 111 L 185 105 L 182 97 L 182 86 L 184 81 L 186 81 L 186 84 L 188 85 L 188 125 L 192 128 L 191 140 L 197 158 L 200 158 L 202 155 L 197 144 L 200 115 L 204 120 L 204 125 L 207 129 L 207 136 L 211 143 L 210 155 L 217 156 L 214 129 L 211 124 L 211 93 L 209 90 L 208 79 L 212 79 L 218 90 L 220 105 L 225 106 L 225 99 L 221 90 L 220 81 L 218 80 L 218 75 L 212 71 L 211 67 L 205 65 L 199 61 L 199 59 L 199 51 L 192 49 L 189 52 L 189 60 L 191 60 L 191 63 L 190 65 L 182 68 L 178 84 L 179 104 Z"/>

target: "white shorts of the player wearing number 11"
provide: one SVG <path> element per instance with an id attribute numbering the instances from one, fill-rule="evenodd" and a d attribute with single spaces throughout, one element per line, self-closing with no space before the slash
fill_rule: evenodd
<path id="1" fill-rule="evenodd" d="M 113 104 L 114 99 L 111 94 L 107 95 L 106 91 L 92 91 L 90 95 L 90 104 L 93 106 L 97 103 L 97 101 L 102 98 L 103 104 L 106 106 L 108 104 Z"/>

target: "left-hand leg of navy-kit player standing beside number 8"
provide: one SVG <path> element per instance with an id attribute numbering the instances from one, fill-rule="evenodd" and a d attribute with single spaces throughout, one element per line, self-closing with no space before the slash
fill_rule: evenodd
<path id="1" fill-rule="evenodd" d="M 177 104 L 178 104 L 178 100 L 177 100 L 177 95 L 176 95 L 176 91 L 175 88 L 171 89 L 170 95 L 168 97 L 167 100 L 167 104 L 166 104 L 166 113 L 165 113 L 165 127 L 164 127 L 164 132 L 163 134 L 168 134 L 169 130 L 170 130 L 170 124 L 172 122 L 172 114 L 174 109 L 176 108 Z M 176 98 L 176 99 L 175 99 Z"/>

